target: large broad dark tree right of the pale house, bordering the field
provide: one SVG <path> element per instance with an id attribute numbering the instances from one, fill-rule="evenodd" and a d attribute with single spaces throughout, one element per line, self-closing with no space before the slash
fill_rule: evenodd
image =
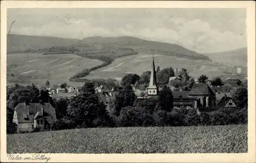
<path id="1" fill-rule="evenodd" d="M 102 127 L 109 123 L 106 106 L 95 94 L 93 83 L 84 83 L 82 92 L 72 98 L 67 116 L 77 128 Z"/>

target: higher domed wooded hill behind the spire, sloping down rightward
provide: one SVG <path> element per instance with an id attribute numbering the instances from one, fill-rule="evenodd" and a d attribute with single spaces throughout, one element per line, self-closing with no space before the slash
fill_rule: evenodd
<path id="1" fill-rule="evenodd" d="M 108 52 L 113 49 L 134 49 L 139 53 L 155 53 L 157 55 L 176 56 L 193 60 L 209 60 L 207 56 L 186 49 L 180 45 L 147 41 L 129 36 L 89 37 L 78 41 L 76 47 L 80 48 L 80 51 L 87 52 L 90 52 L 90 50 L 102 50 L 102 52 Z"/>

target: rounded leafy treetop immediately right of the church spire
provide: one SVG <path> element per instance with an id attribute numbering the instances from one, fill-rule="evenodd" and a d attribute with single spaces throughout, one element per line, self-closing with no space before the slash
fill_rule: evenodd
<path id="1" fill-rule="evenodd" d="M 157 72 L 157 81 L 161 84 L 168 84 L 169 78 L 172 76 L 175 76 L 173 68 L 164 68 Z"/>

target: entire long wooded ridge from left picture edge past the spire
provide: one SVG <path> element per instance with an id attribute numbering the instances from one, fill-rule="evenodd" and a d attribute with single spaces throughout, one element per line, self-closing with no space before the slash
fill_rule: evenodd
<path id="1" fill-rule="evenodd" d="M 119 55 L 115 55 L 114 58 L 123 56 L 122 53 L 143 52 L 193 60 L 209 60 L 207 56 L 180 45 L 147 41 L 135 37 L 89 37 L 77 40 L 25 35 L 10 35 L 8 37 L 7 35 L 8 53 L 53 52 L 52 47 L 55 47 L 54 53 L 69 52 L 71 48 L 74 48 L 74 51 L 80 51 L 84 54 L 111 56 L 111 53 L 118 51 Z"/>

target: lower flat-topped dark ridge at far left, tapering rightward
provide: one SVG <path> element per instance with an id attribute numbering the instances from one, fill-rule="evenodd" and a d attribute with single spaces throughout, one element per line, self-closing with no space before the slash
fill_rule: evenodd
<path id="1" fill-rule="evenodd" d="M 7 35 L 7 53 L 19 53 L 32 49 L 37 51 L 42 48 L 54 46 L 69 46 L 76 44 L 77 39 L 47 37 L 47 36 L 27 36 L 27 35 Z"/>

